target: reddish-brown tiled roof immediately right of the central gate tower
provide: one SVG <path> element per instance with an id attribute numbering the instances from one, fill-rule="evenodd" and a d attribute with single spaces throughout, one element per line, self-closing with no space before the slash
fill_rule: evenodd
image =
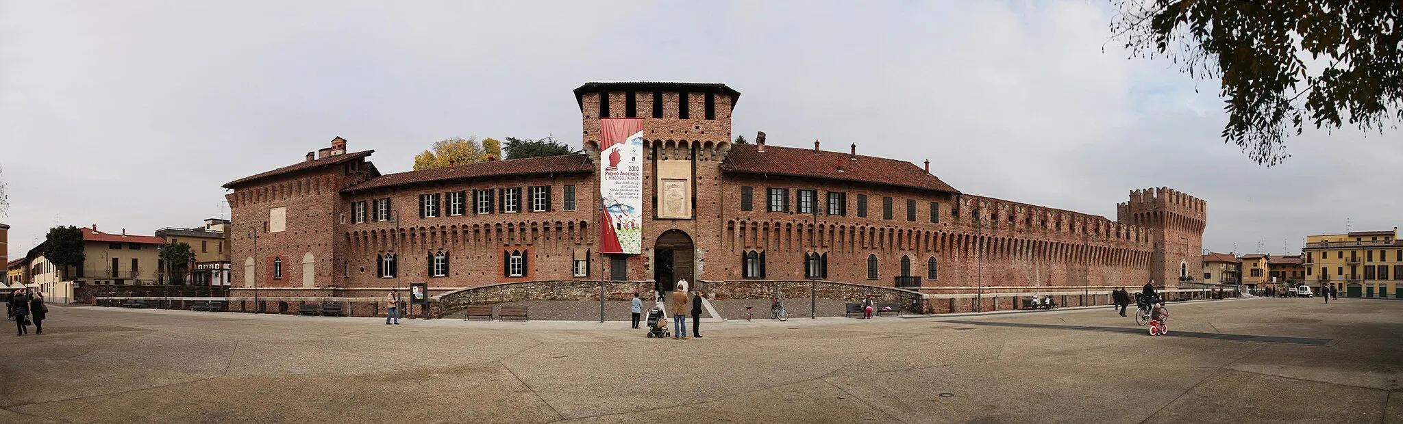
<path id="1" fill-rule="evenodd" d="M 866 182 L 875 185 L 960 193 L 916 164 L 854 155 L 838 151 L 765 146 L 732 144 L 721 162 L 721 171 L 739 174 L 787 175 L 819 179 Z"/>

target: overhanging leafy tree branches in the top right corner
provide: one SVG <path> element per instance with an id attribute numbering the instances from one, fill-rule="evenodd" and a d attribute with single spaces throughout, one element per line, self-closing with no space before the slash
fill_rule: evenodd
<path id="1" fill-rule="evenodd" d="M 1225 143 L 1264 165 L 1306 120 L 1334 130 L 1403 120 L 1403 1 L 1115 0 L 1111 34 L 1136 57 L 1166 56 L 1222 81 Z"/>

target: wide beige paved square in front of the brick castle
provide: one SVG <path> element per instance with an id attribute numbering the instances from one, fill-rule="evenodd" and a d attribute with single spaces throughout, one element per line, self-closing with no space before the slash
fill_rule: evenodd
<path id="1" fill-rule="evenodd" d="M 1143 329 L 1110 309 L 728 320 L 676 341 L 52 309 L 48 334 L 0 339 L 0 423 L 1403 423 L 1403 301 L 1170 305 L 1172 332 L 1323 344 L 1106 330 Z"/>

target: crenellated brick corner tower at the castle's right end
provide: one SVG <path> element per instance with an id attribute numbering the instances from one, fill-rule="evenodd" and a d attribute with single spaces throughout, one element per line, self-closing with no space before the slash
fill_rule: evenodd
<path id="1" fill-rule="evenodd" d="M 1169 188 L 1134 190 L 1129 202 L 1117 204 L 1117 221 L 1149 231 L 1155 283 L 1170 287 L 1198 280 L 1208 202 Z"/>

